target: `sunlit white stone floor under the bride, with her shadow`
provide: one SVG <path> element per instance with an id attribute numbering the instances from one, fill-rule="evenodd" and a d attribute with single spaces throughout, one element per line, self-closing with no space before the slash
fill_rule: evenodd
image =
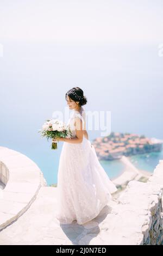
<path id="1" fill-rule="evenodd" d="M 41 187 L 30 208 L 17 221 L 0 232 L 0 245 L 107 245 L 107 218 L 116 199 L 84 225 L 60 224 L 57 220 L 57 188 Z"/>

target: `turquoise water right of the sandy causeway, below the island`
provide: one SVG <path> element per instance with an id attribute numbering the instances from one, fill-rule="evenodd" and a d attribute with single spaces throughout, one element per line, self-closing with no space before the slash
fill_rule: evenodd
<path id="1" fill-rule="evenodd" d="M 136 168 L 153 173 L 153 170 L 159 163 L 159 160 L 163 160 L 163 150 L 161 152 L 134 155 L 128 158 Z"/>

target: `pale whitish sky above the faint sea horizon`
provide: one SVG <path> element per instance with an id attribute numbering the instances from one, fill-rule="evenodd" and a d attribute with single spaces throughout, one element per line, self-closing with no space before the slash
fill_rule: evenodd
<path id="1" fill-rule="evenodd" d="M 161 0 L 1 1 L 1 41 L 161 42 Z"/>

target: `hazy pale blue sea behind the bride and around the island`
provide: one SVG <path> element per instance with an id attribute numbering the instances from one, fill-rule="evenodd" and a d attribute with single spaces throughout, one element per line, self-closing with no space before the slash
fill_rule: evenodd
<path id="1" fill-rule="evenodd" d="M 86 111 L 111 111 L 111 131 L 162 138 L 163 72 L 157 44 L 2 43 L 0 145 L 30 157 L 48 185 L 57 183 L 62 143 L 51 150 L 37 130 L 54 111 L 64 113 L 65 93 L 75 85 L 87 96 Z M 89 139 L 101 136 L 100 130 L 90 130 Z M 160 153 L 131 158 L 149 172 L 159 159 Z M 101 164 L 111 179 L 124 169 L 118 160 Z"/>

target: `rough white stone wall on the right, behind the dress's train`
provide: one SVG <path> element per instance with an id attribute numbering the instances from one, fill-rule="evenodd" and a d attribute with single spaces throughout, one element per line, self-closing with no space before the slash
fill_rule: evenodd
<path id="1" fill-rule="evenodd" d="M 163 245 L 162 191 L 163 160 L 148 182 L 129 182 L 114 209 L 115 219 L 121 217 L 121 223 L 115 227 L 121 244 Z"/>

